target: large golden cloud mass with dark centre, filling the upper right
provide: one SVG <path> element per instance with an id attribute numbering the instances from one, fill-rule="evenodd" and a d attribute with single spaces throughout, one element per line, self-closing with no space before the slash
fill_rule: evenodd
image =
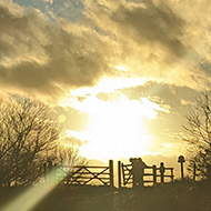
<path id="1" fill-rule="evenodd" d="M 92 26 L 114 41 L 118 66 L 157 82 L 209 89 L 211 81 L 200 66 L 210 60 L 207 0 L 84 2 Z"/>

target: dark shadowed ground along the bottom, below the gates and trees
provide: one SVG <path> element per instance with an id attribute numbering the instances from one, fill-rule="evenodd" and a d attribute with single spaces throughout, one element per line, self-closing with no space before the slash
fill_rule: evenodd
<path id="1" fill-rule="evenodd" d="M 0 210 L 26 188 L 1 188 Z M 30 195 L 28 200 L 32 200 Z M 27 201 L 26 201 L 27 203 Z M 30 211 L 211 211 L 211 182 L 173 182 L 153 188 L 57 187 Z M 19 211 L 19 208 L 17 208 Z"/>

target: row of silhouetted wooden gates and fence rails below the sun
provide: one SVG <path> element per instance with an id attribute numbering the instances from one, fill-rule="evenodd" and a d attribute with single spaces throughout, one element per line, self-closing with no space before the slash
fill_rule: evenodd
<path id="1" fill-rule="evenodd" d="M 113 161 L 109 161 L 107 167 L 97 165 L 57 165 L 52 163 L 44 165 L 46 169 L 46 181 L 54 180 L 62 184 L 98 184 L 113 187 Z M 52 171 L 53 170 L 53 171 Z M 49 172 L 54 172 L 54 177 L 51 177 Z M 161 162 L 160 167 L 144 167 L 142 171 L 141 185 L 154 185 L 159 183 L 167 183 L 173 181 L 173 168 L 164 167 Z M 59 178 L 59 179 L 56 179 Z M 118 181 L 119 188 L 121 187 L 134 187 L 138 185 L 134 182 L 134 175 L 132 173 L 132 164 L 124 164 L 118 162 Z"/>

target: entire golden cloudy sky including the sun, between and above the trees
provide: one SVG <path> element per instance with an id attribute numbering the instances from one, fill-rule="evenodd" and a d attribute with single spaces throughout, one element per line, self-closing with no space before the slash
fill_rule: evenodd
<path id="1" fill-rule="evenodd" d="M 210 52 L 210 0 L 0 0 L 1 96 L 53 104 L 89 159 L 177 162 Z"/>

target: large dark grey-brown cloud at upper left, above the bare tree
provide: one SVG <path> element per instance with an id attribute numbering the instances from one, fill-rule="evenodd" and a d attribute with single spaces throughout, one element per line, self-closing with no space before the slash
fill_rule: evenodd
<path id="1" fill-rule="evenodd" d="M 0 4 L 0 31 L 2 86 L 50 92 L 57 84 L 93 86 L 107 70 L 89 37 L 67 32 L 38 10 Z"/>

